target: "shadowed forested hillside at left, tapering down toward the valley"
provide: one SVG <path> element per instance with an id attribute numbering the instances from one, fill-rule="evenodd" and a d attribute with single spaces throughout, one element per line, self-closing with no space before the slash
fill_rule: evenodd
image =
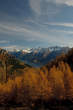
<path id="1" fill-rule="evenodd" d="M 6 82 L 9 77 L 21 75 L 27 67 L 29 66 L 8 54 L 6 50 L 0 49 L 0 82 Z"/>

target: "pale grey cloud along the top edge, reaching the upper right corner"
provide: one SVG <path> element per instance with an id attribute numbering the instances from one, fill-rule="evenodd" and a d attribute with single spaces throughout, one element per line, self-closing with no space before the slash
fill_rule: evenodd
<path id="1" fill-rule="evenodd" d="M 64 4 L 67 6 L 73 6 L 73 0 L 29 0 L 29 3 L 32 10 L 38 15 L 41 15 L 41 14 L 48 15 L 48 14 L 58 13 L 59 7 L 57 7 L 57 5 Z M 57 5 L 54 8 L 53 6 L 50 6 L 50 3 L 57 4 Z"/>

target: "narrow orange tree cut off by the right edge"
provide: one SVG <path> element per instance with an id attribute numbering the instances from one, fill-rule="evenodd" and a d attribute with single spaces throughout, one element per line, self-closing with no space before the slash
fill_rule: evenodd
<path id="1" fill-rule="evenodd" d="M 68 64 L 65 64 L 64 71 L 64 86 L 65 86 L 65 95 L 66 98 L 73 98 L 73 73 Z"/>

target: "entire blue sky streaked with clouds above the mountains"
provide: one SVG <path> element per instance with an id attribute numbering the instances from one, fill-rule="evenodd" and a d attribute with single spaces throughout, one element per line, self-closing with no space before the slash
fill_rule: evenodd
<path id="1" fill-rule="evenodd" d="M 0 47 L 73 47 L 73 0 L 0 0 Z"/>

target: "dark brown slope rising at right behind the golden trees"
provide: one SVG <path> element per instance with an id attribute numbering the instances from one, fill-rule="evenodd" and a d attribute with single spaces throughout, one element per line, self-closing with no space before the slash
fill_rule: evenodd
<path id="1" fill-rule="evenodd" d="M 45 67 L 50 70 L 50 68 L 52 68 L 54 65 L 57 67 L 59 62 L 67 63 L 71 70 L 73 70 L 73 49 L 69 50 L 67 54 L 62 54 L 61 56 L 56 57 L 56 59 L 46 64 Z"/>

